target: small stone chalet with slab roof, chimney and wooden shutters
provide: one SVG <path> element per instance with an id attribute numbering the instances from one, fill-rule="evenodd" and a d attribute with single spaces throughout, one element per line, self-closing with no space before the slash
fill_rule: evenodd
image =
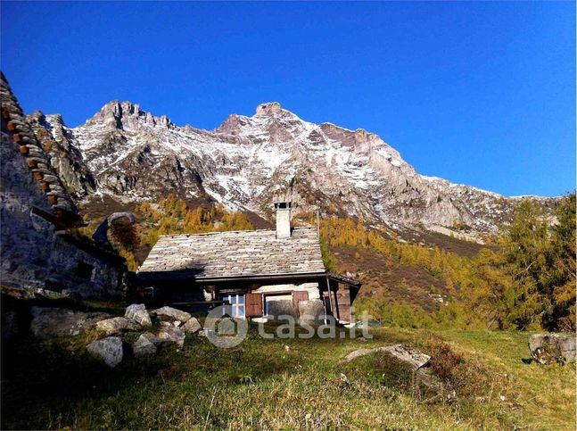
<path id="1" fill-rule="evenodd" d="M 161 236 L 138 277 L 158 299 L 230 303 L 237 318 L 332 315 L 351 322 L 359 281 L 328 272 L 317 228 L 292 228 L 291 203 L 275 207 L 276 229 Z"/>

